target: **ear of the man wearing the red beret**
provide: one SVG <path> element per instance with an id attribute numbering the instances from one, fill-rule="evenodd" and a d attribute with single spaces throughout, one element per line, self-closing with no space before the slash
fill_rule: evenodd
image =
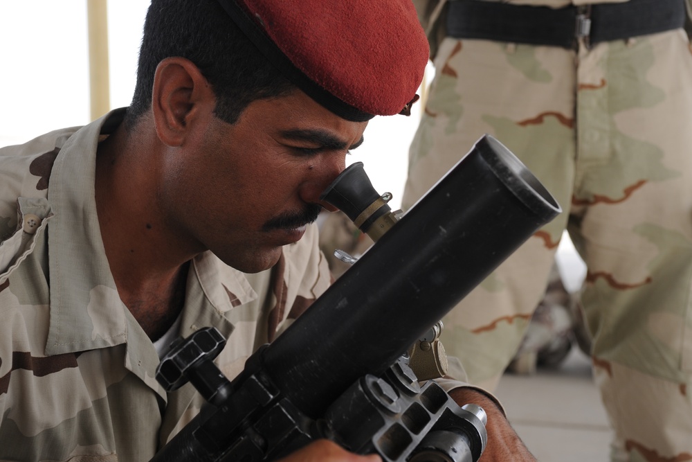
<path id="1" fill-rule="evenodd" d="M 214 92 L 201 71 L 184 57 L 167 57 L 156 66 L 152 112 L 156 134 L 165 145 L 180 146 L 190 123 L 213 110 Z"/>

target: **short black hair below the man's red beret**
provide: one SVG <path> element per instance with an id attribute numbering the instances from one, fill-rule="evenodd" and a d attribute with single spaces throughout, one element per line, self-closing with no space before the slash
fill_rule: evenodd
<path id="1" fill-rule="evenodd" d="M 295 89 L 217 1 L 152 0 L 127 125 L 134 125 L 151 107 L 156 66 L 174 56 L 199 68 L 217 98 L 216 116 L 227 123 L 235 123 L 254 100 L 285 96 Z"/>

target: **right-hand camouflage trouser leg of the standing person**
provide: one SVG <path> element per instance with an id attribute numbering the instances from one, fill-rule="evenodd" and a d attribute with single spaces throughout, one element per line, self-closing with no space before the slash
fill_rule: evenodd
<path id="1" fill-rule="evenodd" d="M 579 61 L 570 231 L 613 460 L 692 460 L 692 54 L 682 31 Z"/>

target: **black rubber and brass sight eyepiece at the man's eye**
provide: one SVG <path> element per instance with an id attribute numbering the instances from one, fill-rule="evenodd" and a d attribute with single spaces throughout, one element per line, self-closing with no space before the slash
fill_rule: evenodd
<path id="1" fill-rule="evenodd" d="M 390 193 L 379 195 L 363 170 L 363 162 L 352 163 L 320 195 L 320 200 L 339 208 L 354 224 L 376 241 L 396 222 L 387 202 Z"/>

